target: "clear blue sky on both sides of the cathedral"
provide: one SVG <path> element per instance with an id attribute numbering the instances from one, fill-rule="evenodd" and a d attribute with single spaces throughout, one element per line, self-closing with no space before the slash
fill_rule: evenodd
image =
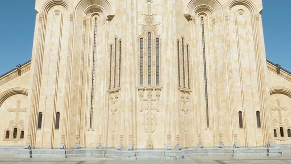
<path id="1" fill-rule="evenodd" d="M 291 0 L 263 0 L 263 5 L 267 59 L 291 71 Z M 0 75 L 31 60 L 34 6 L 35 0 L 1 0 Z"/>

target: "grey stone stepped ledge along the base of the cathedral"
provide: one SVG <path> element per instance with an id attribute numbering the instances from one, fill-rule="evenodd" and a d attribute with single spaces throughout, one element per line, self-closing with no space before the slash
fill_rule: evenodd
<path id="1" fill-rule="evenodd" d="M 8 147 L 2 148 L 9 149 Z M 247 156 L 282 156 L 283 152 L 280 147 L 267 148 L 183 148 L 182 150 L 165 150 L 165 149 L 138 149 L 135 151 L 117 150 L 117 149 L 23 149 L 10 148 L 2 154 L 14 152 L 17 158 L 73 158 L 73 157 L 106 157 L 117 160 L 177 160 L 192 156 L 228 156 L 228 157 L 247 157 Z M 289 151 L 291 147 L 283 147 L 283 150 Z M 1 147 L 0 147 L 1 152 Z"/>

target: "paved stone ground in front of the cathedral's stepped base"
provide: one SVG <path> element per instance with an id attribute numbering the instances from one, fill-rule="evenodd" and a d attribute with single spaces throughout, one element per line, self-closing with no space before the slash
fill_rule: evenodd
<path id="1" fill-rule="evenodd" d="M 111 158 L 17 159 L 1 156 L 0 164 L 291 164 L 291 155 L 282 157 L 188 157 L 181 160 L 123 161 Z"/>

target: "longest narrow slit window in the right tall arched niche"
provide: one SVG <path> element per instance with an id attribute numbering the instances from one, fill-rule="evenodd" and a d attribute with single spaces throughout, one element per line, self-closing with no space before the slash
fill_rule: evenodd
<path id="1" fill-rule="evenodd" d="M 208 91 L 207 91 L 207 73 L 206 73 L 206 51 L 205 51 L 205 33 L 204 33 L 204 20 L 201 17 L 202 27 L 202 49 L 203 49 L 203 66 L 204 66 L 204 85 L 205 85 L 205 102 L 206 102 L 206 121 L 209 127 L 209 114 L 208 114 Z"/>

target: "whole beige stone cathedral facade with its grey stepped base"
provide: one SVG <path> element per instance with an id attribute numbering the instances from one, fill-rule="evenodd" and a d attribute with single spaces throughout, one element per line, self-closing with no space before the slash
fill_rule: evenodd
<path id="1" fill-rule="evenodd" d="M 0 152 L 124 159 L 291 152 L 291 73 L 262 0 L 36 0 L 0 77 Z"/>

